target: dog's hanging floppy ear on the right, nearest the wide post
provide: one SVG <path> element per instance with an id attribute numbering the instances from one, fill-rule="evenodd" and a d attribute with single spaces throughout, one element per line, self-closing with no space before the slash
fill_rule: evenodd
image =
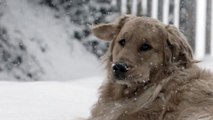
<path id="1" fill-rule="evenodd" d="M 165 62 L 187 67 L 193 60 L 193 53 L 186 37 L 174 25 L 167 25 L 165 42 Z"/>

